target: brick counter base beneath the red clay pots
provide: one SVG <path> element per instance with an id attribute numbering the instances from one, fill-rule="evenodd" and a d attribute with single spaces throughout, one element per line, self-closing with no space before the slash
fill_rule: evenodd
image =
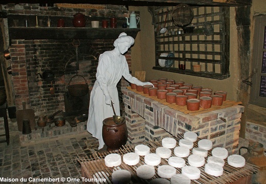
<path id="1" fill-rule="evenodd" d="M 224 147 L 229 154 L 237 153 L 243 106 L 191 116 L 128 89 L 122 92 L 129 143 L 137 144 L 192 131 L 201 139 L 211 140 L 213 147 Z"/>

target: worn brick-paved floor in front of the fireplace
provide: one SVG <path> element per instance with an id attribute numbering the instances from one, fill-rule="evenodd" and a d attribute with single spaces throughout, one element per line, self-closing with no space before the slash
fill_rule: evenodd
<path id="1" fill-rule="evenodd" d="M 18 182 L 0 183 L 82 183 L 74 181 L 31 182 L 33 178 L 81 178 L 77 157 L 97 151 L 98 140 L 90 133 L 62 135 L 57 139 L 20 146 L 18 134 L 11 134 L 10 145 L 0 144 L 0 179 Z M 23 178 L 23 181 L 20 179 Z"/>

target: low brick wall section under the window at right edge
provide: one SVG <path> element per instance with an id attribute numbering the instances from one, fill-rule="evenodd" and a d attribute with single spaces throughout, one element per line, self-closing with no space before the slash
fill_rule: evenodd
<path id="1" fill-rule="evenodd" d="M 266 127 L 264 125 L 247 122 L 245 138 L 263 144 L 264 149 L 266 149 Z"/>

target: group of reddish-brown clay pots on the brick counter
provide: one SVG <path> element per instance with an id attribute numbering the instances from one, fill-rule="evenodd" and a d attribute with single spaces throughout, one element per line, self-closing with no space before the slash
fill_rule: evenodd
<path id="1" fill-rule="evenodd" d="M 187 109 L 190 111 L 199 110 L 200 107 L 207 109 L 212 105 L 220 106 L 223 105 L 223 101 L 226 101 L 226 91 L 215 91 L 212 95 L 212 89 L 203 89 L 202 86 L 193 86 L 193 84 L 186 84 L 181 81 L 175 82 L 165 78 L 150 80 L 150 82 L 154 87 L 151 85 L 130 85 L 132 89 L 137 89 L 137 91 L 149 96 L 157 96 L 161 100 L 166 99 L 167 103 L 175 103 L 179 106 L 187 105 Z"/>

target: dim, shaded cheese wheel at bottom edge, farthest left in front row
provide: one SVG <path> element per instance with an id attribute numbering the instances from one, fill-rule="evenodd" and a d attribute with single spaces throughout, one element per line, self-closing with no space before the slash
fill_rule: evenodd
<path id="1" fill-rule="evenodd" d="M 131 180 L 131 173 L 127 170 L 117 170 L 112 173 L 112 182 L 115 184 L 128 183 Z"/>

